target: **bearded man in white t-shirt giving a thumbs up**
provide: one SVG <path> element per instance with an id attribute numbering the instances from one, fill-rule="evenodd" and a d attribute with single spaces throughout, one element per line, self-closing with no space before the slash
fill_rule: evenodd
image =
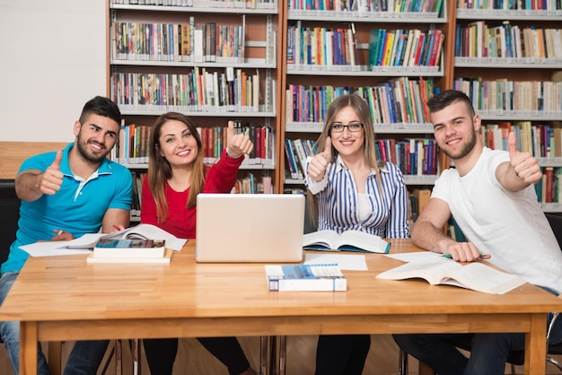
<path id="1" fill-rule="evenodd" d="M 481 257 L 505 271 L 558 295 L 562 292 L 562 251 L 540 210 L 533 184 L 540 181 L 539 163 L 517 150 L 515 134 L 508 151 L 484 146 L 481 121 L 470 99 L 447 90 L 427 101 L 435 140 L 452 161 L 443 170 L 431 199 L 411 232 L 423 249 L 450 254 L 455 261 Z M 470 242 L 457 242 L 443 233 L 451 216 Z M 551 319 L 549 314 L 549 321 Z M 507 354 L 524 348 L 523 334 L 395 335 L 407 353 L 439 375 L 503 375 Z M 558 319 L 550 343 L 562 341 Z M 457 347 L 470 350 L 466 358 Z"/>

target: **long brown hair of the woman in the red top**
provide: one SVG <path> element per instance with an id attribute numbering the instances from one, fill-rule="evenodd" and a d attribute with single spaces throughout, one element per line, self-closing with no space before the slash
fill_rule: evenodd
<path id="1" fill-rule="evenodd" d="M 193 161 L 193 170 L 191 172 L 191 181 L 189 188 L 189 197 L 186 203 L 186 208 L 195 207 L 197 203 L 197 196 L 203 189 L 204 165 L 203 165 L 203 150 L 201 147 L 201 137 L 199 136 L 197 126 L 187 116 L 178 112 L 168 112 L 161 115 L 156 119 L 152 129 L 152 136 L 149 150 L 149 166 L 148 166 L 148 186 L 153 194 L 154 202 L 156 203 L 156 216 L 158 222 L 165 222 L 168 215 L 168 202 L 166 202 L 165 187 L 166 181 L 171 179 L 171 166 L 162 155 L 160 154 L 160 133 L 162 126 L 170 120 L 180 121 L 188 127 L 189 133 L 195 138 L 198 144 L 198 154 Z"/>

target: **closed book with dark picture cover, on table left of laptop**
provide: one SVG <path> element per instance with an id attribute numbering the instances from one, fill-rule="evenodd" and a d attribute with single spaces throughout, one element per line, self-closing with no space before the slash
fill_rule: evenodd
<path id="1" fill-rule="evenodd" d="M 163 257 L 165 240 L 100 239 L 92 257 Z"/>

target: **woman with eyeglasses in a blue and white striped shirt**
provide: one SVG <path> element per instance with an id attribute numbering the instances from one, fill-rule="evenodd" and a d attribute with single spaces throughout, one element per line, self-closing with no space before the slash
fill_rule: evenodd
<path id="1" fill-rule="evenodd" d="M 318 230 L 408 238 L 408 193 L 400 169 L 377 159 L 371 112 L 356 94 L 334 100 L 307 163 L 308 210 Z M 316 375 L 360 375 L 370 335 L 320 336 Z"/>

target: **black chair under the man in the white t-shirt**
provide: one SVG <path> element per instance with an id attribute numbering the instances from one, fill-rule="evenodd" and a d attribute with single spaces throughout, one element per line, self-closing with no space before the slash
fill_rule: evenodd
<path id="1" fill-rule="evenodd" d="M 549 220 L 550 227 L 558 240 L 558 245 L 562 250 L 562 215 L 559 214 L 545 214 L 547 219 Z M 556 358 L 552 357 L 552 355 L 562 355 L 562 344 L 549 344 L 550 338 L 550 330 L 554 326 L 555 321 L 558 319 L 559 312 L 557 312 L 550 322 L 547 337 L 546 337 L 546 344 L 547 346 L 547 362 L 552 363 L 555 365 L 559 371 L 562 371 L 562 363 L 559 362 Z M 462 349 L 462 348 L 461 348 Z M 399 354 L 399 375 L 408 375 L 408 353 L 405 353 L 400 348 Z M 511 371 L 512 375 L 515 375 L 515 366 L 522 366 L 525 362 L 525 351 L 524 350 L 514 350 L 511 351 L 507 355 L 507 363 L 511 364 Z"/>

